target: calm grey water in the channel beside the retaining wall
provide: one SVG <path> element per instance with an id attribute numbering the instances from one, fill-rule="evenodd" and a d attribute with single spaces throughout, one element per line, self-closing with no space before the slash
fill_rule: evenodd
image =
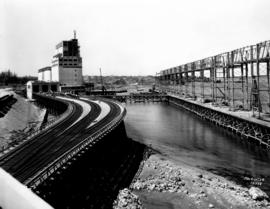
<path id="1" fill-rule="evenodd" d="M 263 178 L 270 191 L 270 156 L 255 145 L 166 104 L 127 104 L 128 135 L 174 160 L 201 167 L 250 185 Z"/>

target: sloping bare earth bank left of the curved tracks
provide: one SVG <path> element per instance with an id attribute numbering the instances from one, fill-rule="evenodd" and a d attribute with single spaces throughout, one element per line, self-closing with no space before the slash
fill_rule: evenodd
<path id="1" fill-rule="evenodd" d="M 22 137 L 39 127 L 45 114 L 45 109 L 38 108 L 16 94 L 14 97 L 17 102 L 4 117 L 0 118 L 0 148 L 16 137 Z"/>

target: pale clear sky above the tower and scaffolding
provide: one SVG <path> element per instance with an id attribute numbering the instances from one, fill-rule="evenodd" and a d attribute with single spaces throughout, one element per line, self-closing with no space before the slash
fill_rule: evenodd
<path id="1" fill-rule="evenodd" d="M 75 29 L 84 75 L 154 75 L 270 39 L 269 10 L 269 0 L 0 0 L 0 71 L 37 76 Z"/>

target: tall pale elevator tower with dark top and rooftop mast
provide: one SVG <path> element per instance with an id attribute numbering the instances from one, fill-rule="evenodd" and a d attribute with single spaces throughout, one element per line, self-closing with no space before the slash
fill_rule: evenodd
<path id="1" fill-rule="evenodd" d="M 82 58 L 74 32 L 74 38 L 56 45 L 51 68 L 51 81 L 61 86 L 82 86 Z"/>

